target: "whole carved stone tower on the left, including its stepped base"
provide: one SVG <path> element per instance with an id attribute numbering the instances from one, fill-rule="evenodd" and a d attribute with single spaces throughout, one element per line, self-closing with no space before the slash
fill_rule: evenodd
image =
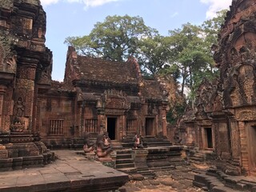
<path id="1" fill-rule="evenodd" d="M 38 94 L 50 88 L 46 13 L 38 0 L 0 4 L 0 170 L 47 163 L 37 129 Z M 49 160 L 49 159 L 48 159 Z"/>

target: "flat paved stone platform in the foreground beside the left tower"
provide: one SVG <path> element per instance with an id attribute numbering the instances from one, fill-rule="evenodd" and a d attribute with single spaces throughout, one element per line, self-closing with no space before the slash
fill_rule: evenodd
<path id="1" fill-rule="evenodd" d="M 54 153 L 58 159 L 49 165 L 0 172 L 0 191 L 110 191 L 129 180 L 127 174 L 87 160 L 74 150 Z"/>

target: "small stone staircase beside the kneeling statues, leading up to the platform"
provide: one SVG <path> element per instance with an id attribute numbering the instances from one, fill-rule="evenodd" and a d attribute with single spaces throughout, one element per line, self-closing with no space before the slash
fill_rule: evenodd
<path id="1" fill-rule="evenodd" d="M 115 168 L 126 174 L 136 173 L 137 170 L 134 165 L 132 150 L 116 150 Z"/>

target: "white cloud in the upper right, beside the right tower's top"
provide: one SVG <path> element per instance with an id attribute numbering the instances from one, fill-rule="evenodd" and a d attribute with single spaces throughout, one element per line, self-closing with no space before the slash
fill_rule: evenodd
<path id="1" fill-rule="evenodd" d="M 206 18 L 214 18 L 219 10 L 230 10 L 232 0 L 200 0 L 200 2 L 209 5 L 206 12 Z"/>

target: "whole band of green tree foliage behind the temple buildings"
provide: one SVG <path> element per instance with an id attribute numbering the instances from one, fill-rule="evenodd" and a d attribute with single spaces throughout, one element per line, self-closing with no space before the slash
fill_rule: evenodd
<path id="1" fill-rule="evenodd" d="M 104 22 L 97 22 L 89 35 L 68 37 L 65 42 L 90 57 L 123 62 L 134 56 L 144 75 L 174 79 L 170 83 L 175 84 L 173 92 L 179 97 L 188 94 L 193 103 L 202 79 L 212 80 L 218 75 L 211 46 L 218 41 L 225 15 L 226 10 L 222 10 L 201 26 L 186 23 L 181 29 L 170 30 L 166 37 L 138 16 L 108 16 Z M 170 98 L 168 122 L 175 122 L 184 112 L 186 102 L 177 102 L 177 98 Z"/>

